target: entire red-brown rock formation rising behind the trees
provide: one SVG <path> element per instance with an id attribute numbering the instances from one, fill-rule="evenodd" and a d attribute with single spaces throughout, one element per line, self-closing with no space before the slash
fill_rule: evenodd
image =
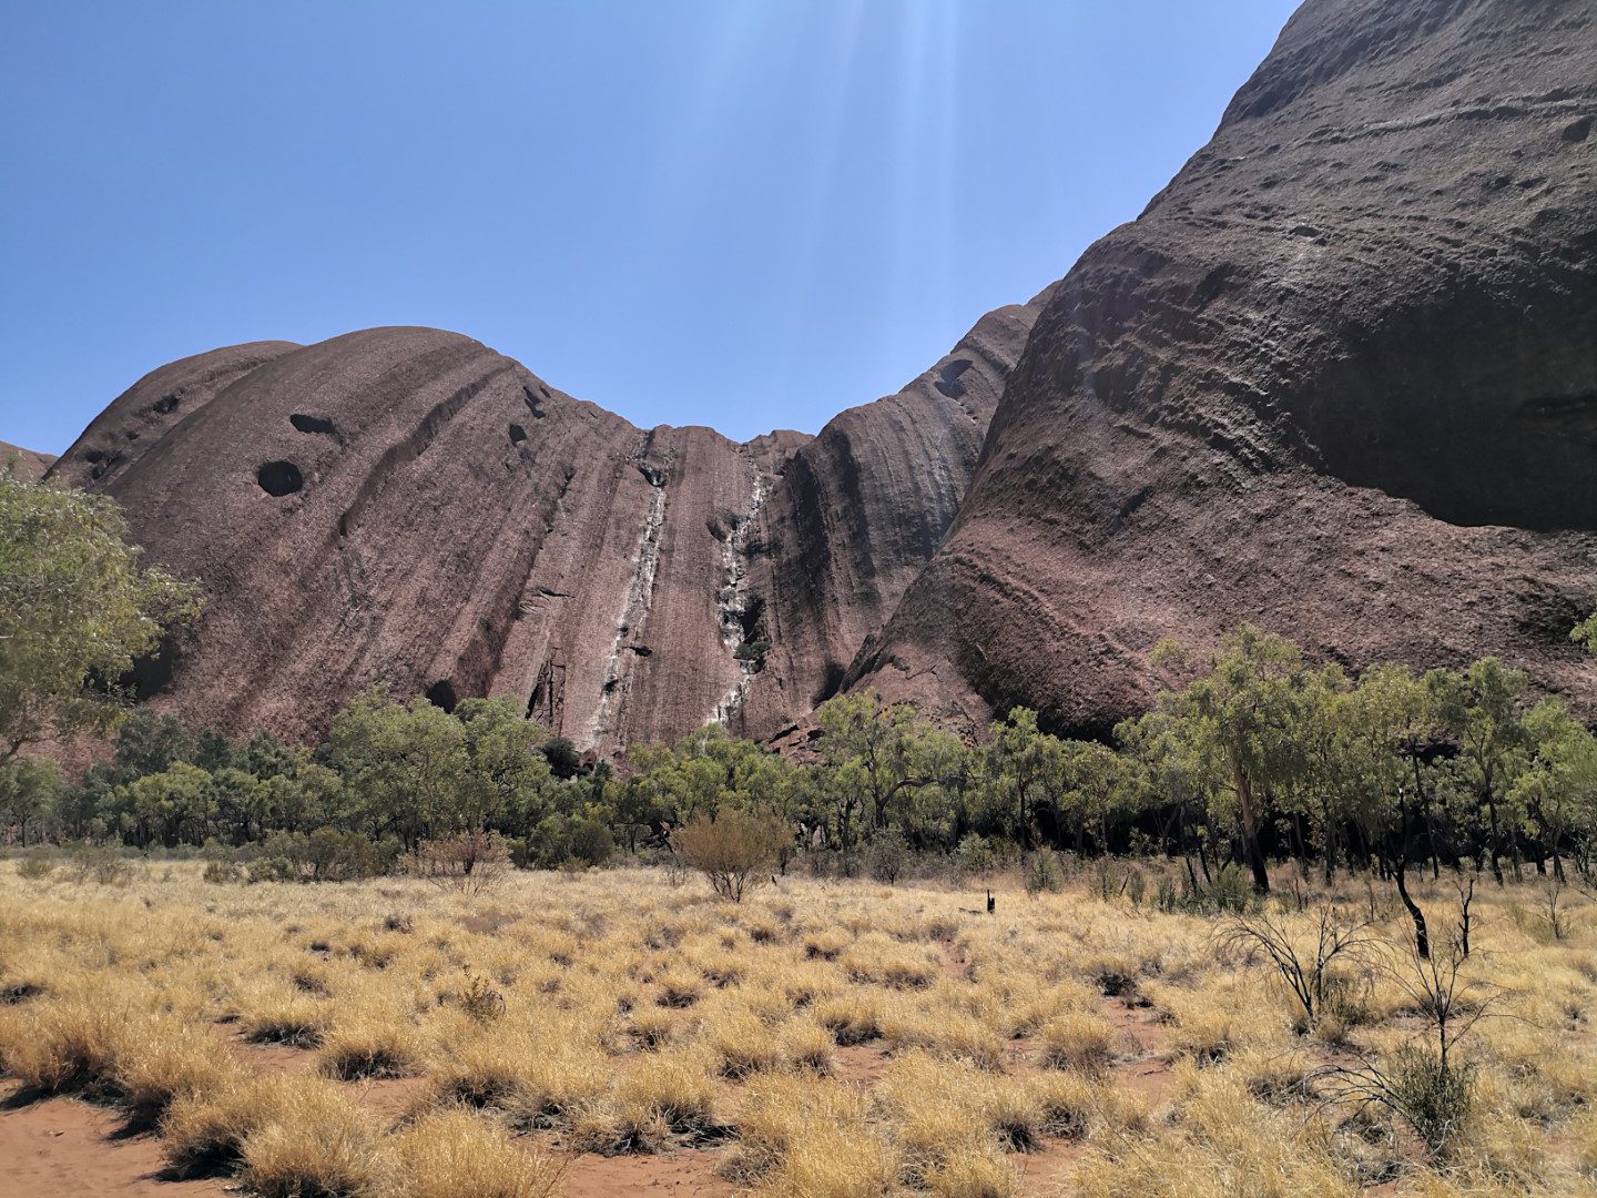
<path id="1" fill-rule="evenodd" d="M 1597 712 L 1594 80 L 1597 0 L 1310 0 L 1139 220 L 813 439 L 372 329 L 161 367 L 51 476 L 203 581 L 158 701 L 235 733 L 385 680 L 763 736 L 845 674 L 1104 732 L 1242 620 Z"/>

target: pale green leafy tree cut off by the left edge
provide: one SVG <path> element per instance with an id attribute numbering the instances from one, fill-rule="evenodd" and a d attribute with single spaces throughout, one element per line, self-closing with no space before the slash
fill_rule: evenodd
<path id="1" fill-rule="evenodd" d="M 0 471 L 0 762 L 50 736 L 105 733 L 120 680 L 198 593 L 139 567 L 115 502 Z"/>

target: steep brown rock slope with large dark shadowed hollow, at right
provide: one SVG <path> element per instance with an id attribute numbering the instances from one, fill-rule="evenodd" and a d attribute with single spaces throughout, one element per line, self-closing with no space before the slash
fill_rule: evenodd
<path id="1" fill-rule="evenodd" d="M 1038 318 L 854 685 L 1104 732 L 1242 620 L 1597 714 L 1597 3 L 1310 0 Z"/>

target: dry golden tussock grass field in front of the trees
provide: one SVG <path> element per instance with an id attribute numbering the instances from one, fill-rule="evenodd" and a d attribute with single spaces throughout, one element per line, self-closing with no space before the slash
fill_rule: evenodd
<path id="1" fill-rule="evenodd" d="M 585 1161 L 628 1164 L 615 1192 L 688 1148 L 722 1193 L 818 1198 L 1597 1193 L 1597 917 L 1555 938 L 1533 885 L 1477 885 L 1458 1005 L 1490 997 L 1490 1018 L 1455 1049 L 1471 1101 L 1429 1152 L 1356 1101 L 1369 1065 L 1426 1043 L 1380 968 L 1412 925 L 1362 882 L 1340 918 L 1373 918 L 1373 942 L 1308 1021 L 1230 920 L 1086 877 L 1000 879 L 989 915 L 974 887 L 800 877 L 733 906 L 658 871 L 474 896 L 16 871 L 11 1107 L 112 1102 L 174 1174 L 254 1193 L 573 1193 Z M 1415 893 L 1444 939 L 1450 882 Z M 1311 947 L 1318 898 L 1298 906 L 1271 918 Z"/>

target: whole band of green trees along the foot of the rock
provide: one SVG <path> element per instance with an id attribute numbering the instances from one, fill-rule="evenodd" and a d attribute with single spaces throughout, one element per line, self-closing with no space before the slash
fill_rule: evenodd
<path id="1" fill-rule="evenodd" d="M 800 851 L 973 867 L 1038 848 L 1163 853 L 1195 888 L 1234 863 L 1260 891 L 1279 861 L 1399 885 L 1410 867 L 1592 872 L 1597 740 L 1495 658 L 1353 676 L 1244 625 L 1203 657 L 1161 645 L 1166 692 L 1108 741 L 1052 735 L 1024 708 L 963 740 L 862 692 L 818 711 L 810 760 L 709 725 L 615 770 L 511 701 L 444 711 L 374 688 L 321 744 L 235 743 L 126 716 L 136 663 L 198 593 L 142 569 L 125 534 L 112 500 L 0 470 L 0 842 L 267 845 L 323 875 L 323 859 L 380 867 L 478 832 L 519 864 L 668 853 L 672 829 L 739 810 L 787 829 L 783 867 Z M 1571 636 L 1597 652 L 1597 617 Z M 110 759 L 77 781 L 26 752 L 112 728 Z"/>

